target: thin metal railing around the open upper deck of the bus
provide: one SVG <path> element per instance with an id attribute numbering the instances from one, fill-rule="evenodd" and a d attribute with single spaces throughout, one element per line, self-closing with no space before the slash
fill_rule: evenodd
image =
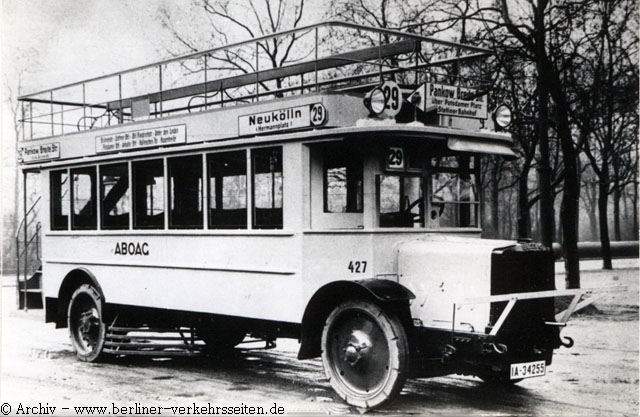
<path id="1" fill-rule="evenodd" d="M 447 80 L 487 49 L 418 34 L 325 22 L 19 97 L 23 140 L 325 90 Z M 449 68 L 450 70 L 450 68 Z M 451 81 L 455 79 L 454 81 Z"/>

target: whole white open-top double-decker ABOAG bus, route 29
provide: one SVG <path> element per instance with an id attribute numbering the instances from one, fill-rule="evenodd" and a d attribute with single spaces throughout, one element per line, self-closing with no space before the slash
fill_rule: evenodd
<path id="1" fill-rule="evenodd" d="M 548 248 L 480 239 L 480 158 L 513 156 L 488 55 L 329 22 L 21 97 L 46 321 L 89 362 L 297 339 L 362 408 L 544 375 L 580 291 Z"/>

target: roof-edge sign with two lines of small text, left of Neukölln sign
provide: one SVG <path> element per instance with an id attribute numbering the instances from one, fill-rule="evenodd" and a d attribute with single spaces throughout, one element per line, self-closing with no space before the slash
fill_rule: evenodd
<path id="1" fill-rule="evenodd" d="M 187 143 L 187 126 L 160 126 L 96 137 L 96 153 L 131 151 Z"/>

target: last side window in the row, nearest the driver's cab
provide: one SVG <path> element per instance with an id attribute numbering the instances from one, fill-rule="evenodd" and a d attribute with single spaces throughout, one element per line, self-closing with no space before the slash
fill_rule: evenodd
<path id="1" fill-rule="evenodd" d="M 282 148 L 254 149 L 253 227 L 282 229 Z"/>

